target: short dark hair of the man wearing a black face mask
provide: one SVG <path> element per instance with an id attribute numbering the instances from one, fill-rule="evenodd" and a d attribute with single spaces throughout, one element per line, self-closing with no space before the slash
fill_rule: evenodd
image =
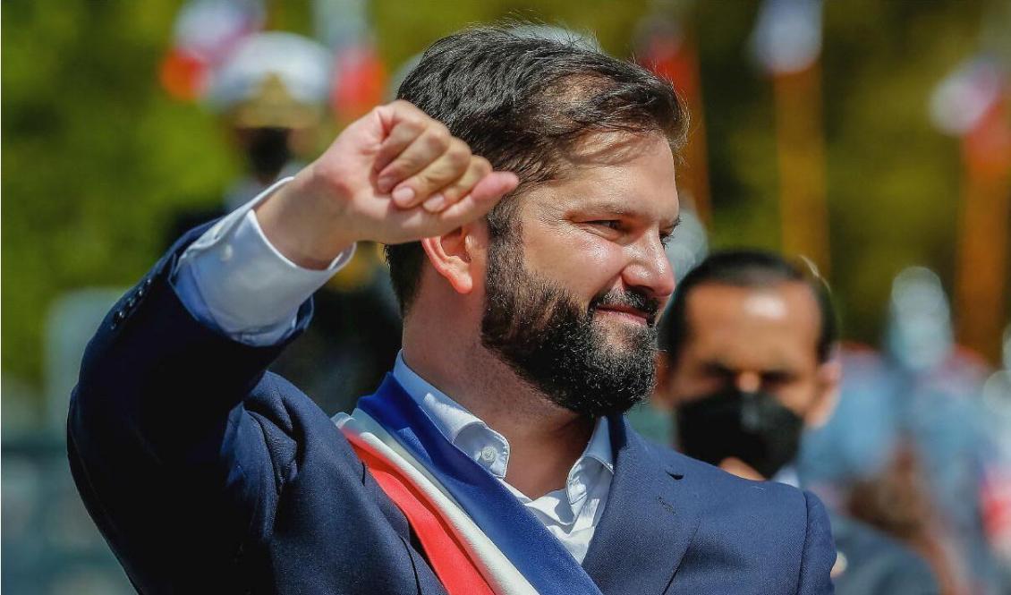
<path id="1" fill-rule="evenodd" d="M 806 272 L 807 271 L 807 272 Z M 691 329 L 687 324 L 687 302 L 692 289 L 714 283 L 734 287 L 774 287 L 786 282 L 808 285 L 818 303 L 820 330 L 816 346 L 818 361 L 827 361 L 838 340 L 839 324 L 828 284 L 812 266 L 788 261 L 774 252 L 764 250 L 724 250 L 714 252 L 692 269 L 674 289 L 662 324 L 664 349 L 672 361 L 677 361 Z"/>

